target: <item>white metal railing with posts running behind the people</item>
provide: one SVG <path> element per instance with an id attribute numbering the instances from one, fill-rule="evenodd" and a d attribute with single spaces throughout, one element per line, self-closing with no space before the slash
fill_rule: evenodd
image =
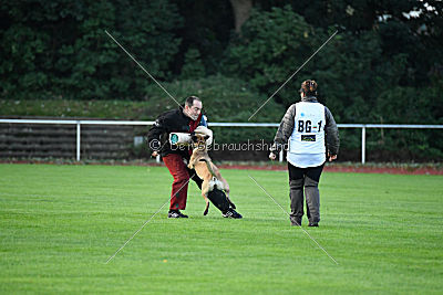
<path id="1" fill-rule="evenodd" d="M 0 119 L 0 124 L 54 124 L 76 125 L 76 160 L 80 161 L 81 126 L 82 125 L 133 125 L 150 126 L 153 120 L 54 120 L 54 119 Z M 278 123 L 210 123 L 212 127 L 278 127 Z M 443 129 L 443 125 L 403 125 L 403 124 L 338 124 L 339 128 L 361 128 L 361 162 L 365 162 L 367 128 L 396 129 Z M 282 161 L 282 154 L 279 157 Z"/>

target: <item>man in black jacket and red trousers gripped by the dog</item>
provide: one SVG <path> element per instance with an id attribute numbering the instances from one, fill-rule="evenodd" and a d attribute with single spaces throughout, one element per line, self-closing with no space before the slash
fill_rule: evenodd
<path id="1" fill-rule="evenodd" d="M 196 96 L 189 96 L 186 98 L 184 106 L 159 115 L 147 135 L 150 148 L 153 150 L 152 156 L 156 157 L 159 152 L 169 173 L 174 178 L 168 218 L 187 218 L 181 210 L 186 209 L 189 177 L 202 189 L 203 180 L 198 178 L 194 169 L 187 167 L 192 148 L 171 146 L 168 141 L 171 133 L 190 134 L 198 126 L 207 127 L 206 116 L 203 115 L 202 108 L 202 101 Z M 217 191 L 210 192 L 208 198 L 217 208 L 227 202 L 225 200 L 226 197 L 222 198 Z M 226 208 L 222 213 L 225 218 L 238 218 L 239 215 L 231 208 Z"/>

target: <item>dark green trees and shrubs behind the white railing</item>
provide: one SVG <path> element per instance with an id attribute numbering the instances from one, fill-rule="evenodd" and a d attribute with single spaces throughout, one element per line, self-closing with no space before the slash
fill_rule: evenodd
<path id="1" fill-rule="evenodd" d="M 176 107 L 107 30 L 177 99 L 197 94 L 209 120 L 245 122 L 338 30 L 253 122 L 278 122 L 309 77 L 338 123 L 443 124 L 441 1 L 285 3 L 3 1 L 0 115 L 154 119 Z M 359 133 L 342 135 L 359 148 Z M 435 130 L 373 131 L 368 144 L 443 159 Z"/>

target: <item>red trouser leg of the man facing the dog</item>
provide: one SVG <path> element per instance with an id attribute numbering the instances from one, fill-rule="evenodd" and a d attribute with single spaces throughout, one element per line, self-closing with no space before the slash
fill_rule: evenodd
<path id="1" fill-rule="evenodd" d="M 169 209 L 184 210 L 186 209 L 187 185 L 189 182 L 188 169 L 181 155 L 169 154 L 163 157 L 163 161 L 174 177 Z"/>

